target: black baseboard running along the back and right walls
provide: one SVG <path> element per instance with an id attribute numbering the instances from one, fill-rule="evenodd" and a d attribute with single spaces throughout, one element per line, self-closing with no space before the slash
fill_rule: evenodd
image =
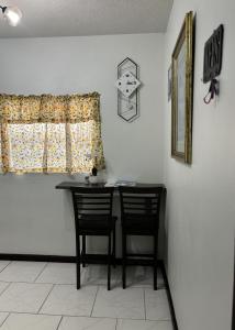
<path id="1" fill-rule="evenodd" d="M 74 255 L 0 253 L 0 260 L 51 262 L 51 263 L 75 263 L 76 256 L 74 256 Z M 104 257 L 102 258 L 102 256 L 100 254 L 97 254 L 97 255 L 92 255 L 91 258 L 89 260 L 89 262 L 92 264 L 100 264 L 100 263 L 107 263 L 107 260 Z M 116 265 L 121 265 L 122 258 L 116 257 L 115 263 L 116 263 Z M 146 260 L 134 260 L 134 261 L 132 261 L 132 264 L 133 265 L 147 265 L 147 261 Z M 174 330 L 179 330 L 164 261 L 158 260 L 158 265 L 163 272 L 163 277 L 164 277 L 165 287 L 166 287 L 166 292 L 167 292 L 167 298 L 168 298 L 168 302 L 169 302 L 169 307 L 170 307 L 170 315 L 171 315 Z"/>

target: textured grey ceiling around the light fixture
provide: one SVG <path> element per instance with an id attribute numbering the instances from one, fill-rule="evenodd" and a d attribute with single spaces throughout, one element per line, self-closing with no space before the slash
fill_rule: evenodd
<path id="1" fill-rule="evenodd" d="M 16 28 L 0 15 L 0 37 L 165 32 L 174 0 L 0 0 L 16 6 Z"/>

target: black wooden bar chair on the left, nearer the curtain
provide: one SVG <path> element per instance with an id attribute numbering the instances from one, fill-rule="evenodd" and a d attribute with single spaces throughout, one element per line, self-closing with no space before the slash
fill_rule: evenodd
<path id="1" fill-rule="evenodd" d="M 115 221 L 112 216 L 112 187 L 78 187 L 71 189 L 76 228 L 77 289 L 80 288 L 80 264 L 89 263 L 86 237 L 108 237 L 108 290 L 110 290 L 111 264 L 115 263 Z M 82 249 L 80 251 L 80 237 Z M 112 246 L 111 246 L 112 244 Z M 112 251 L 111 251 L 112 250 Z"/>

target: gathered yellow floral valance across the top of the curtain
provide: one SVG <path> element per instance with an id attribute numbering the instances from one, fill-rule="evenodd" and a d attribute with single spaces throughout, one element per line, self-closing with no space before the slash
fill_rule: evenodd
<path id="1" fill-rule="evenodd" d="M 0 95 L 1 123 L 100 122 L 98 92 L 67 96 Z"/>

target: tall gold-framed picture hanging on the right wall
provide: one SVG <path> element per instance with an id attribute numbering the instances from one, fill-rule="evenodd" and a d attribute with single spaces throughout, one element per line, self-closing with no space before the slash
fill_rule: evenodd
<path id="1" fill-rule="evenodd" d="M 191 164 L 193 14 L 186 14 L 172 53 L 171 156 Z"/>

